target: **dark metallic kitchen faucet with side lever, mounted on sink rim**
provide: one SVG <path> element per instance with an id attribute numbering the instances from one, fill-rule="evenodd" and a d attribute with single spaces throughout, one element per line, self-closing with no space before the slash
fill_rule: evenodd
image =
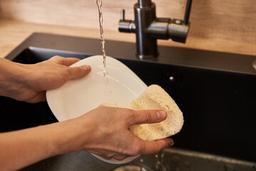
<path id="1" fill-rule="evenodd" d="M 157 39 L 169 39 L 185 43 L 188 35 L 192 0 L 187 1 L 184 20 L 157 18 L 155 3 L 151 0 L 138 0 L 134 5 L 135 20 L 125 19 L 125 10 L 121 11 L 118 28 L 121 32 L 136 34 L 136 56 L 155 58 L 158 56 Z"/>

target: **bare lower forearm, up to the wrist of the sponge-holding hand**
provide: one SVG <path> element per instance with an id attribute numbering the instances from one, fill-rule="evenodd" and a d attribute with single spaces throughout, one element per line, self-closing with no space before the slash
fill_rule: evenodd
<path id="1" fill-rule="evenodd" d="M 70 122 L 1 133 L 1 170 L 17 170 L 53 155 L 78 150 L 74 148 L 78 140 L 75 133 L 81 133 L 81 130 Z"/>

